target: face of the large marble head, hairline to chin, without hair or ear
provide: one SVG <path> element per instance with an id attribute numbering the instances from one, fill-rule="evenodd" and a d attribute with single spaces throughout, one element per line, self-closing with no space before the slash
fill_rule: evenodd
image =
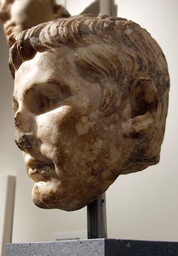
<path id="1" fill-rule="evenodd" d="M 16 72 L 16 143 L 42 208 L 86 206 L 115 180 L 127 156 L 112 134 L 117 120 L 105 122 L 99 110 L 100 85 L 79 75 L 74 56 L 65 48 L 38 52 Z"/>

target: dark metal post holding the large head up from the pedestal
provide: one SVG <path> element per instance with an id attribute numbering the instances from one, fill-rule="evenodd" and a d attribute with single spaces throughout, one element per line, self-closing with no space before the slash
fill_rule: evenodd
<path id="1" fill-rule="evenodd" d="M 106 195 L 87 206 L 88 239 L 107 238 Z"/>

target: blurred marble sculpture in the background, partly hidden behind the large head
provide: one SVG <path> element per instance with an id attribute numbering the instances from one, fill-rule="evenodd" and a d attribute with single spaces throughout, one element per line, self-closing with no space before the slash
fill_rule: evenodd
<path id="1" fill-rule="evenodd" d="M 70 16 L 56 0 L 0 0 L 0 20 L 8 45 L 16 41 L 16 35 L 43 22 Z"/>

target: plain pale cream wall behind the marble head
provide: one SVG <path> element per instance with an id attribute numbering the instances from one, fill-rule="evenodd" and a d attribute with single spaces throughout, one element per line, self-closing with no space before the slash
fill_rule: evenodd
<path id="1" fill-rule="evenodd" d="M 93 1 L 87 1 L 88 4 Z M 170 72 L 170 102 L 160 163 L 119 176 L 106 192 L 109 238 L 178 241 L 178 1 L 115 0 L 117 15 L 146 28 L 161 46 Z M 67 0 L 72 15 L 86 8 Z M 0 177 L 17 176 L 12 242 L 52 241 L 54 233 L 86 231 L 86 207 L 75 212 L 44 210 L 31 200 L 32 183 L 14 142 L 13 80 L 8 46 L 0 24 Z"/>

